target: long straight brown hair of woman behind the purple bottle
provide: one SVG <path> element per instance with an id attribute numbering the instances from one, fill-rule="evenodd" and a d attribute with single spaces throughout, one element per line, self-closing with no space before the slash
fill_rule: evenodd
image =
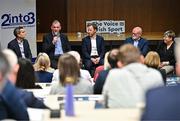
<path id="1" fill-rule="evenodd" d="M 61 55 L 58 61 L 58 68 L 60 72 L 60 82 L 62 85 L 66 85 L 67 77 L 73 78 L 73 84 L 76 84 L 79 81 L 80 68 L 74 56 L 68 53 Z"/>

